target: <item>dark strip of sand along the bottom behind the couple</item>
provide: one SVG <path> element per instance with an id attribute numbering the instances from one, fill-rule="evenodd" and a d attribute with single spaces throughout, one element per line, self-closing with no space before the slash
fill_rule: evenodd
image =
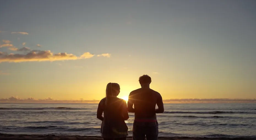
<path id="1" fill-rule="evenodd" d="M 55 135 L 12 135 L 1 134 L 0 140 L 102 140 L 99 136 L 55 136 Z M 132 140 L 132 137 L 127 137 L 127 140 Z M 159 140 L 247 140 L 246 138 L 188 138 L 188 137 L 159 137 Z M 249 140 L 249 139 L 248 139 Z M 252 140 L 252 139 L 250 139 Z"/>

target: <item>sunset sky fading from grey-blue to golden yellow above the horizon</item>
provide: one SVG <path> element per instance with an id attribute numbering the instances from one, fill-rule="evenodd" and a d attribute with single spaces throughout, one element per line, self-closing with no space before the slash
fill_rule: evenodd
<path id="1" fill-rule="evenodd" d="M 0 99 L 256 98 L 254 0 L 1 1 Z M 9 99 L 10 98 L 10 99 Z"/>

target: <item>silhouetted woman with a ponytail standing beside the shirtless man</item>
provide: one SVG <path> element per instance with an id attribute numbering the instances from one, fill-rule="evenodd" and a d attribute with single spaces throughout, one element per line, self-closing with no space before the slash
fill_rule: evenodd
<path id="1" fill-rule="evenodd" d="M 127 104 L 125 100 L 116 97 L 119 93 L 119 84 L 108 83 L 106 97 L 98 106 L 97 118 L 102 121 L 100 133 L 104 140 L 125 140 L 128 135 L 128 127 L 124 122 L 129 119 Z"/>

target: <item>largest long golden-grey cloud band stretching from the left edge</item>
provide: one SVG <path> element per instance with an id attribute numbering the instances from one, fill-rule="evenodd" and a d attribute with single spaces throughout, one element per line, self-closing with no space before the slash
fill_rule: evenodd
<path id="1" fill-rule="evenodd" d="M 23 47 L 21 50 L 28 50 L 29 48 Z M 58 60 L 77 60 L 77 59 L 89 59 L 94 54 L 89 52 L 84 53 L 80 57 L 73 54 L 57 53 L 53 54 L 51 51 L 40 51 L 32 50 L 27 54 L 6 54 L 0 52 L 0 63 L 1 62 L 31 62 L 31 61 L 58 61 Z"/>

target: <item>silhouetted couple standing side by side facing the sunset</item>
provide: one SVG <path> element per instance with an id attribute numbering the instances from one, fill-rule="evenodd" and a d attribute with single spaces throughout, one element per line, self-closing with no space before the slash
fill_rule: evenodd
<path id="1" fill-rule="evenodd" d="M 164 112 L 163 100 L 158 92 L 149 88 L 151 78 L 148 75 L 141 76 L 139 82 L 141 88 L 130 93 L 128 106 L 125 100 L 117 98 L 120 92 L 119 84 L 107 84 L 106 98 L 100 101 L 97 110 L 97 118 L 102 121 L 100 132 L 104 140 L 126 139 L 128 127 L 124 121 L 129 119 L 128 112 L 135 113 L 133 140 L 144 140 L 145 135 L 147 140 L 158 139 L 156 113 Z M 156 104 L 158 109 L 155 109 Z"/>

